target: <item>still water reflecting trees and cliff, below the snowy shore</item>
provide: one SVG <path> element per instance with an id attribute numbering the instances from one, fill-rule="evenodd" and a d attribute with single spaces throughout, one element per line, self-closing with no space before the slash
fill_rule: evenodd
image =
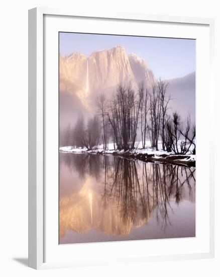
<path id="1" fill-rule="evenodd" d="M 195 236 L 195 168 L 60 153 L 59 243 Z"/>

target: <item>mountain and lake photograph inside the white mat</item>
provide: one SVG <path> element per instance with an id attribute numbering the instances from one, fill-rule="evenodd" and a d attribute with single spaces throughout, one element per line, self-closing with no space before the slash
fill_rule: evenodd
<path id="1" fill-rule="evenodd" d="M 59 244 L 196 236 L 195 49 L 59 32 Z"/>

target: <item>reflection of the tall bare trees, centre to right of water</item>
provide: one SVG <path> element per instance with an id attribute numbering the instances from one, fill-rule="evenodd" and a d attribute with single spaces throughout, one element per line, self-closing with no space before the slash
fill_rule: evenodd
<path id="1" fill-rule="evenodd" d="M 104 156 L 103 162 L 106 160 L 108 157 Z M 186 197 L 193 200 L 195 169 L 125 158 L 115 158 L 113 167 L 107 181 L 105 177 L 102 204 L 106 207 L 107 202 L 117 203 L 123 221 L 135 224 L 138 216 L 147 222 L 154 212 L 158 220 L 163 219 L 161 225 L 165 229 L 170 224 L 170 201 L 178 204 Z"/>

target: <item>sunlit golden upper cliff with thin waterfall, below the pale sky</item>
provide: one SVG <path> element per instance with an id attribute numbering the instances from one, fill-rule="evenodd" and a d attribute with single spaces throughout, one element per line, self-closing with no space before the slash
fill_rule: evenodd
<path id="1" fill-rule="evenodd" d="M 60 56 L 59 70 L 60 92 L 77 95 L 84 105 L 99 93 L 113 92 L 120 83 L 135 89 L 141 82 L 151 86 L 155 81 L 145 61 L 121 46 L 93 52 L 88 58 L 82 53 Z"/>

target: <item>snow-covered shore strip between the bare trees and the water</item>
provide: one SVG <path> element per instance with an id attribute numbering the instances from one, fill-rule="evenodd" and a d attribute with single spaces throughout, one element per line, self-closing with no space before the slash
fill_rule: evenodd
<path id="1" fill-rule="evenodd" d="M 149 145 L 149 142 L 148 144 Z M 159 144 L 159 149 L 161 149 Z M 186 155 L 176 155 L 172 152 L 166 152 L 163 150 L 155 150 L 147 146 L 146 149 L 137 147 L 134 150 L 115 150 L 113 144 L 108 145 L 108 150 L 103 150 L 102 145 L 96 149 L 88 150 L 87 148 L 73 148 L 72 146 L 60 147 L 60 152 L 67 153 L 88 153 L 88 154 L 112 154 L 117 156 L 123 156 L 127 158 L 135 158 L 144 162 L 159 162 L 168 164 L 177 164 L 188 167 L 195 167 L 195 155 L 191 154 L 192 149 Z"/>

